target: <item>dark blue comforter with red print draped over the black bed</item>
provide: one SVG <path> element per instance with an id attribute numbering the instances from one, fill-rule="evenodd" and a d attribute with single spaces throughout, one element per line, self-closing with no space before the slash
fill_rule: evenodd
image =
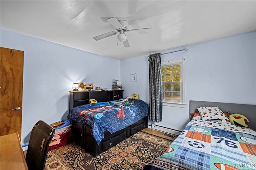
<path id="1" fill-rule="evenodd" d="M 142 100 L 99 102 L 74 107 L 68 119 L 92 129 L 97 144 L 104 138 L 104 131 L 110 133 L 126 128 L 148 116 L 148 104 Z"/>

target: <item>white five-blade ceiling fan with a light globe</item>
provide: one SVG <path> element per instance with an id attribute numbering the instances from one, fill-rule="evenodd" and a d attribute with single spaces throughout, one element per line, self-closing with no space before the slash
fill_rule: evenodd
<path id="1" fill-rule="evenodd" d="M 124 47 L 130 47 L 127 36 L 125 32 L 128 31 L 134 31 L 134 30 L 147 30 L 147 29 L 152 29 L 152 28 L 139 28 L 139 29 L 134 29 L 134 30 L 127 30 L 128 27 L 128 22 L 126 20 L 117 20 L 115 17 L 113 18 L 108 18 L 107 21 L 112 24 L 116 28 L 116 31 L 111 31 L 107 32 L 105 34 L 101 34 L 99 36 L 94 37 L 93 39 L 98 41 L 103 38 L 107 38 L 113 35 L 116 35 L 116 33 L 119 33 L 117 35 L 118 41 L 124 43 Z"/>

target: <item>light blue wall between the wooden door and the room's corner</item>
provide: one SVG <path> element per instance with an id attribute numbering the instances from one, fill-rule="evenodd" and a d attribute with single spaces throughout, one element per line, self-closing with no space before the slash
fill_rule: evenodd
<path id="1" fill-rule="evenodd" d="M 112 87 L 120 79 L 120 60 L 1 29 L 1 47 L 24 51 L 21 142 L 28 144 L 38 120 L 67 119 L 73 82 Z"/>

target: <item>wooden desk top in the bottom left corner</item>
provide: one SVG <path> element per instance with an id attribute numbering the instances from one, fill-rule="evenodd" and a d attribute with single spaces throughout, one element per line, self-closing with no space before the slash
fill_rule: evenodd
<path id="1" fill-rule="evenodd" d="M 0 136 L 0 169 L 28 170 L 18 132 Z"/>

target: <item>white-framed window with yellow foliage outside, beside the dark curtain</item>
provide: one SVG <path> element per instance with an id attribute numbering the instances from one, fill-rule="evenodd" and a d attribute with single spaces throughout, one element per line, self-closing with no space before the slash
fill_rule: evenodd
<path id="1" fill-rule="evenodd" d="M 162 63 L 163 105 L 184 107 L 184 64 L 183 59 Z"/>

